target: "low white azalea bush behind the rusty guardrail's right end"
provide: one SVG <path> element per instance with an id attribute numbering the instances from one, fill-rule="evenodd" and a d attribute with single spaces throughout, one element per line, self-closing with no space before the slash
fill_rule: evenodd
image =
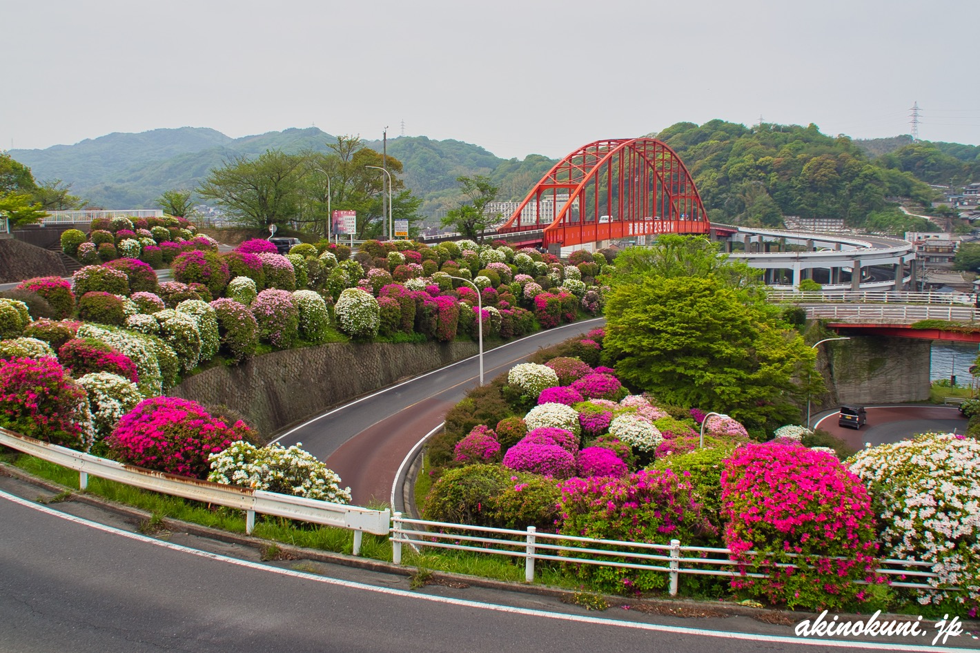
<path id="1" fill-rule="evenodd" d="M 257 447 L 244 440 L 208 456 L 208 480 L 225 485 L 291 494 L 330 503 L 350 503 L 351 488 L 340 487 L 340 477 L 301 448 L 281 444 Z"/>

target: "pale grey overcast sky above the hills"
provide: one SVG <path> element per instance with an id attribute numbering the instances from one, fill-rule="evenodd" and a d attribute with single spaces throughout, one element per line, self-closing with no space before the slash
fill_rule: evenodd
<path id="1" fill-rule="evenodd" d="M 557 158 L 681 121 L 980 144 L 978 0 L 0 0 L 0 149 L 112 131 Z"/>

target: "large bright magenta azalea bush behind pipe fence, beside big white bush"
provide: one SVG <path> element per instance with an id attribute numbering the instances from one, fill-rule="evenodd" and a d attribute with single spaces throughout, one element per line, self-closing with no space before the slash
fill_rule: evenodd
<path id="1" fill-rule="evenodd" d="M 814 610 L 854 608 L 873 596 L 855 583 L 884 582 L 875 575 L 871 498 L 834 455 L 799 444 L 747 444 L 724 465 L 725 546 L 740 571 L 768 576 L 735 578 L 733 588 Z"/>

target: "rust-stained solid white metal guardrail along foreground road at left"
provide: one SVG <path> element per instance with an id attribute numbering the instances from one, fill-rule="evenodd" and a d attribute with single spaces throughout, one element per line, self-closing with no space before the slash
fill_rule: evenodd
<path id="1" fill-rule="evenodd" d="M 78 472 L 78 486 L 81 489 L 88 486 L 88 477 L 93 476 L 116 480 L 133 487 L 171 494 L 193 501 L 244 510 L 246 512 L 245 531 L 247 533 L 251 533 L 255 527 L 256 513 L 323 526 L 347 528 L 354 531 L 353 552 L 354 555 L 358 555 L 361 552 L 361 540 L 365 532 L 387 535 L 391 525 L 391 512 L 388 509 L 370 510 L 358 506 L 327 503 L 305 497 L 152 472 L 74 451 L 67 447 L 42 442 L 32 437 L 25 437 L 6 428 L 0 428 L 0 444 L 56 465 L 76 470 Z"/>

